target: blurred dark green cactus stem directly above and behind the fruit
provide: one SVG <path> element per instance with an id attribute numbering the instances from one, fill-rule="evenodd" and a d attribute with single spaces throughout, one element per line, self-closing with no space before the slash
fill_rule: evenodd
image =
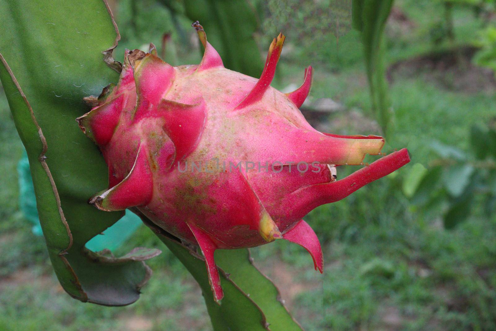
<path id="1" fill-rule="evenodd" d="M 262 59 L 253 34 L 258 22 L 246 0 L 184 0 L 186 16 L 198 20 L 228 69 L 260 77 Z M 274 36 L 275 37 L 275 36 Z M 203 52 L 203 50 L 202 50 Z"/>

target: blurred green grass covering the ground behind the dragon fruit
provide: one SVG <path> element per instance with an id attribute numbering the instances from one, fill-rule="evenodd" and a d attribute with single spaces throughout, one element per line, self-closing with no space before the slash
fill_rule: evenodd
<path id="1" fill-rule="evenodd" d="M 438 4 L 398 4 L 416 27 L 388 32 L 388 64 L 444 47 L 429 40 L 435 22 L 425 15 L 438 12 Z M 466 44 L 480 22 L 464 17 L 469 17 L 466 9 L 455 10 L 457 40 Z M 394 29 L 392 23 L 388 27 Z M 362 132 L 363 124 L 349 120 L 350 112 L 358 111 L 373 122 L 360 48 L 356 36 L 346 38 L 340 39 L 336 57 L 339 70 L 314 66 L 312 96 L 345 106 L 329 115 L 336 133 L 376 133 Z M 333 54 L 332 45 L 327 50 Z M 346 52 L 354 53 L 347 57 Z M 311 59 L 296 54 L 282 59 L 277 87 L 301 82 Z M 399 75 L 390 85 L 396 130 L 388 148 L 408 147 L 412 163 L 427 166 L 431 141 L 467 150 L 468 129 L 487 122 L 496 106 L 494 93 L 455 92 L 426 81 L 424 74 Z M 43 238 L 31 233 L 17 208 L 22 144 L 3 95 L 0 116 L 0 330 L 210 330 L 198 286 L 144 227 L 121 251 L 146 246 L 164 253 L 149 262 L 154 275 L 136 303 L 101 307 L 63 292 Z M 408 167 L 308 215 L 324 249 L 323 275 L 312 270 L 310 257 L 296 245 L 278 242 L 252 250 L 255 263 L 280 286 L 306 330 L 496 329 L 496 218 L 484 218 L 475 208 L 469 221 L 444 230 L 439 215 L 425 215 L 402 195 Z"/>

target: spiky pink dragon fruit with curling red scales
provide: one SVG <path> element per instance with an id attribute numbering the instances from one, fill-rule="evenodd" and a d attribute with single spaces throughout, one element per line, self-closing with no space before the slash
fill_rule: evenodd
<path id="1" fill-rule="evenodd" d="M 135 207 L 155 225 L 199 246 L 214 299 L 223 291 L 216 249 L 285 239 L 303 246 L 322 272 L 317 236 L 302 219 L 410 161 L 401 149 L 337 180 L 336 167 L 379 155 L 376 135 L 314 130 L 298 109 L 312 68 L 294 92 L 272 88 L 285 37 L 275 38 L 259 79 L 226 69 L 193 23 L 205 48 L 199 65 L 171 66 L 149 53 L 125 51 L 117 85 L 77 119 L 100 147 L 109 189 L 90 199 L 107 211 Z"/>

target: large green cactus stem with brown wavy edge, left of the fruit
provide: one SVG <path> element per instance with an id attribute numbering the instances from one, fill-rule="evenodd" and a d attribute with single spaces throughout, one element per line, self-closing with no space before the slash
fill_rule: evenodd
<path id="1" fill-rule="evenodd" d="M 89 110 L 82 98 L 98 95 L 118 78 L 102 61 L 102 51 L 119 39 L 106 4 L 6 0 L 0 2 L 0 20 L 0 79 L 28 153 L 55 272 L 81 301 L 132 303 L 151 272 L 142 260 L 158 251 L 116 259 L 84 247 L 123 214 L 87 203 L 107 186 L 107 167 L 75 122 Z"/>

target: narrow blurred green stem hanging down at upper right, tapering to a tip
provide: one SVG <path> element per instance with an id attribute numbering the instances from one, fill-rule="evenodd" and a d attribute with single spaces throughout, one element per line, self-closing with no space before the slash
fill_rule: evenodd
<path id="1" fill-rule="evenodd" d="M 389 99 L 384 68 L 382 36 L 393 0 L 353 0 L 353 26 L 362 33 L 365 65 L 372 99 L 372 110 L 384 135 L 392 123 L 392 108 Z"/>

